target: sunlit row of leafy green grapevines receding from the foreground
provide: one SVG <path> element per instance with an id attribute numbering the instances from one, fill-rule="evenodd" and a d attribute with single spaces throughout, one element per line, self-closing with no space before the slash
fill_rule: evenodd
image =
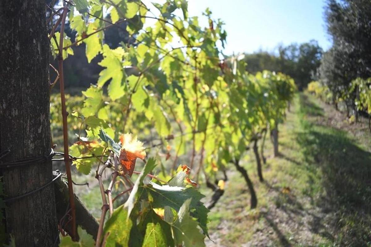
<path id="1" fill-rule="evenodd" d="M 208 208 L 223 193 L 232 166 L 246 180 L 250 207 L 257 206 L 240 160 L 254 143 L 263 182 L 258 141 L 265 139 L 267 129 L 275 132 L 278 155 L 278 124 L 295 92 L 293 80 L 269 71 L 249 75 L 239 57 L 223 58 L 217 43 L 224 46 L 226 31 L 210 10 L 204 13 L 209 27 L 200 27 L 197 17 L 188 17 L 186 2 L 155 5 L 160 16 L 153 16 L 141 2 L 75 7 L 79 13 L 69 18 L 76 41 L 56 32 L 52 51 L 66 59 L 73 55 L 71 47 L 83 42 L 88 61 L 103 55 L 99 65 L 105 69 L 97 83 L 83 91 L 83 98 L 67 100 L 67 123 L 76 129 L 69 155 L 79 172 L 89 175 L 96 169 L 101 188 L 96 246 L 204 246 L 204 237 L 209 237 Z M 104 20 L 105 8 L 111 21 Z M 183 15 L 175 16 L 177 10 Z M 148 18 L 155 24 L 139 32 Z M 123 20 L 138 45 L 111 49 L 93 31 Z M 61 43 L 63 48 L 58 49 Z M 58 101 L 59 97 L 52 101 L 52 126 L 58 126 L 63 111 L 53 107 Z M 144 161 L 141 171 L 135 169 L 137 159 Z M 107 187 L 104 172 L 112 173 Z M 134 182 L 133 173 L 139 173 Z M 207 207 L 200 203 L 201 185 L 215 192 Z M 113 196 L 113 190 L 119 193 Z M 68 246 L 65 241 L 70 243 L 62 239 L 60 246 Z"/>

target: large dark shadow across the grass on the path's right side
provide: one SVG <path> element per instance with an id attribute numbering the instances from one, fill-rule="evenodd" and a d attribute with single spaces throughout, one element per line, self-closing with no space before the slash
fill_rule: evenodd
<path id="1" fill-rule="evenodd" d="M 297 140 L 309 172 L 321 171 L 326 193 L 319 204 L 334 212 L 336 241 L 341 246 L 370 246 L 371 153 L 359 148 L 344 131 L 306 121 L 304 116 L 312 114 L 308 108 L 317 112 L 318 106 L 305 97 L 300 99 L 304 132 L 298 133 Z"/>

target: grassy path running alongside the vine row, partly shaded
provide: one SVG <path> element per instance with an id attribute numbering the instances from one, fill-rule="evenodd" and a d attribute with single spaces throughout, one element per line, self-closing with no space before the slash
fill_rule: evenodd
<path id="1" fill-rule="evenodd" d="M 243 163 L 255 185 L 257 209 L 249 210 L 246 184 L 231 172 L 209 214 L 214 242 L 207 246 L 371 246 L 367 126 L 349 125 L 332 106 L 299 94 L 279 128 L 281 155 L 272 158 L 266 142 L 264 183 L 252 151 Z"/>

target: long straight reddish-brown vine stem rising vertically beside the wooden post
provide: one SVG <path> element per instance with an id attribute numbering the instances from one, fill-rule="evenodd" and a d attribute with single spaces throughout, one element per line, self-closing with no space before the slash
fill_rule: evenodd
<path id="1" fill-rule="evenodd" d="M 63 2 L 64 3 L 64 2 Z M 76 236 L 76 210 L 75 210 L 75 196 L 73 194 L 72 176 L 71 176 L 71 164 L 68 154 L 68 130 L 67 130 L 67 111 L 66 111 L 66 99 L 65 99 L 65 84 L 63 75 L 63 34 L 65 31 L 65 22 L 68 12 L 68 7 L 64 5 L 62 13 L 62 23 L 60 26 L 60 38 L 59 38 L 59 55 L 58 55 L 58 70 L 59 70 L 59 85 L 60 85 L 60 99 L 62 104 L 62 118 L 63 118 L 63 148 L 64 148 L 64 160 L 66 165 L 69 202 L 72 213 L 72 240 L 77 240 Z"/>

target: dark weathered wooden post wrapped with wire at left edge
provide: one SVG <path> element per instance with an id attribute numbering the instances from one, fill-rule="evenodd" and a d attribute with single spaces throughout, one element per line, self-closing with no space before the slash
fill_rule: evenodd
<path id="1" fill-rule="evenodd" d="M 11 162 L 50 153 L 49 40 L 45 1 L 0 1 L 0 153 Z M 53 179 L 52 162 L 2 169 L 4 193 L 16 197 Z M 58 246 L 53 185 L 6 204 L 6 233 L 16 246 Z M 9 235 L 8 235 L 9 236 Z"/>

